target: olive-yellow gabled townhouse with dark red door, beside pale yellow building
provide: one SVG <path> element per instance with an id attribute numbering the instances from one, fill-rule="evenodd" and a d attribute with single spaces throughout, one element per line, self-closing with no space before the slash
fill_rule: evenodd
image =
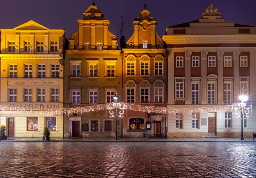
<path id="1" fill-rule="evenodd" d="M 66 50 L 64 107 L 81 107 L 122 101 L 122 59 L 116 36 L 108 31 L 109 20 L 95 3 L 77 20 L 78 30 L 70 35 Z M 118 137 L 122 121 L 118 118 Z M 108 110 L 64 115 L 64 137 L 114 137 L 116 119 Z"/>

